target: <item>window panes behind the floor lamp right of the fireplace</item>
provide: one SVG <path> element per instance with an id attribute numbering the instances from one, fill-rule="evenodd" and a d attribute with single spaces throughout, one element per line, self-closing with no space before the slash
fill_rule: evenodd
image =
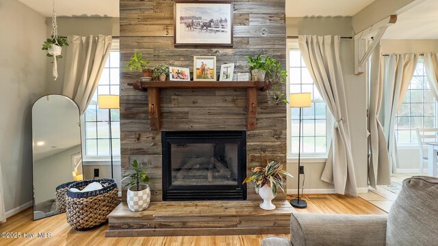
<path id="1" fill-rule="evenodd" d="M 324 156 L 329 152 L 327 146 L 331 141 L 327 118 L 327 109 L 322 96 L 313 83 L 309 70 L 302 60 L 300 50 L 289 50 L 289 85 L 290 93 L 311 92 L 312 105 L 302 108 L 301 154 Z M 298 128 L 300 109 L 291 108 L 291 149 L 289 153 L 298 154 Z"/>

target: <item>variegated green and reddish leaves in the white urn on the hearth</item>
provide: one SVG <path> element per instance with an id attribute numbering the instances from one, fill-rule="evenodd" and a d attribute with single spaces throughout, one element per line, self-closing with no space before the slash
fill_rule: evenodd
<path id="1" fill-rule="evenodd" d="M 283 165 L 281 165 L 279 161 L 271 161 L 270 163 L 268 163 L 268 165 L 266 165 L 266 167 L 255 167 L 251 169 L 251 171 L 253 171 L 253 174 L 245 178 L 243 184 L 253 181 L 257 191 L 261 187 L 268 185 L 268 187 L 271 187 L 274 196 L 276 195 L 276 192 L 279 190 L 279 188 L 283 192 L 285 192 L 285 189 L 283 187 L 284 179 L 282 175 L 294 178 L 292 174 L 283 171 Z"/>

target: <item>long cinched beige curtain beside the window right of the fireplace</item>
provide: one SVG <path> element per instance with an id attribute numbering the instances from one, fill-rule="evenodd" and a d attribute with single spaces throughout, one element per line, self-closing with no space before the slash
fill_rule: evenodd
<path id="1" fill-rule="evenodd" d="M 329 157 L 321 180 L 333 183 L 336 193 L 357 195 L 339 43 L 339 36 L 298 37 L 302 57 L 315 86 L 335 118 Z"/>

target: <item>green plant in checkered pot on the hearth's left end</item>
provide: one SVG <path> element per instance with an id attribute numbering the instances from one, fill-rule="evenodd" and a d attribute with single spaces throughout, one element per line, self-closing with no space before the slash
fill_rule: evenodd
<path id="1" fill-rule="evenodd" d="M 123 180 L 127 179 L 129 182 L 125 184 L 128 187 L 127 204 L 129 210 L 139 212 L 148 208 L 151 202 L 151 189 L 149 185 L 144 182 L 149 181 L 146 171 L 138 165 L 138 161 L 134 160 L 131 164 L 134 172 L 132 174 L 123 174 Z"/>

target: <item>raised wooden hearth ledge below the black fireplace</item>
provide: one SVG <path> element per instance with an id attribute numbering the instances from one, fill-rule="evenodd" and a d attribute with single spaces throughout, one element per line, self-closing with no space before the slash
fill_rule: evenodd
<path id="1" fill-rule="evenodd" d="M 125 202 L 108 215 L 107 237 L 213 236 L 289 234 L 294 208 L 274 201 L 275 210 L 262 210 L 261 201 L 151 202 L 131 212 Z"/>

